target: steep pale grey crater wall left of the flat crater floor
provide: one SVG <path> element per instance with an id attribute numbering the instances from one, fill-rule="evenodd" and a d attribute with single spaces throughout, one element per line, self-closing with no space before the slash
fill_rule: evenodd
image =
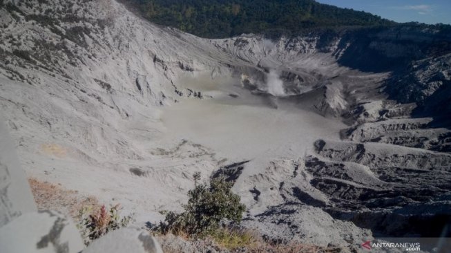
<path id="1" fill-rule="evenodd" d="M 147 185 L 179 191 L 175 186 L 181 182 L 174 178 L 191 185 L 182 174 L 192 173 L 181 167 L 212 171 L 217 166 L 207 149 L 191 142 L 169 144 L 167 151 L 148 145 L 164 130 L 157 107 L 173 104 L 182 93 L 171 80 L 186 71 L 216 66 L 220 71 L 213 57 L 186 42 L 196 38 L 141 21 L 115 1 L 4 5 L 1 105 L 30 174 L 52 180 L 63 168 L 78 171 L 67 175 L 65 181 L 73 182 L 65 182 L 67 187 L 91 191 L 97 185 L 98 192 L 111 193 L 104 200 L 111 200 L 121 185 L 120 176 L 110 178 L 111 171 L 141 185 L 144 196 Z M 184 150 L 199 156 L 188 158 Z M 139 171 L 149 160 L 160 169 L 143 178 Z M 164 167 L 179 169 L 171 176 Z M 138 188 L 133 194 L 140 195 Z M 155 187 L 160 190 L 166 191 Z M 160 200 L 173 203 L 182 192 Z M 117 201 L 132 201 L 127 198 Z M 154 199 L 147 205 L 163 204 Z"/>

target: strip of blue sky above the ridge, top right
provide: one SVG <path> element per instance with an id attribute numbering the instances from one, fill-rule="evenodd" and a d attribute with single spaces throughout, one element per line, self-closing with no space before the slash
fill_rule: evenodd
<path id="1" fill-rule="evenodd" d="M 451 0 L 316 0 L 332 6 L 364 10 L 397 22 L 451 24 Z"/>

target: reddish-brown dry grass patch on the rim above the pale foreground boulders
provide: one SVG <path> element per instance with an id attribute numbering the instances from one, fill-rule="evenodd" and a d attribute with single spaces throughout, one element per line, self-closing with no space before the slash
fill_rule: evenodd
<path id="1" fill-rule="evenodd" d="M 81 196 L 78 191 L 68 190 L 51 182 L 44 182 L 36 178 L 28 178 L 31 191 L 39 210 L 53 209 L 71 216 L 75 221 L 79 210 L 91 206 L 100 208 L 97 198 Z"/>

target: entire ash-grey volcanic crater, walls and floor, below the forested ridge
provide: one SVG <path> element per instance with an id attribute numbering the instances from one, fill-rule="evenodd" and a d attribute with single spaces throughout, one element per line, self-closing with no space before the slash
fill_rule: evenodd
<path id="1" fill-rule="evenodd" d="M 225 175 L 242 226 L 325 246 L 450 220 L 451 35 L 202 39 L 115 0 L 31 2 L 0 8 L 0 109 L 28 177 L 157 223 L 196 171 Z"/>

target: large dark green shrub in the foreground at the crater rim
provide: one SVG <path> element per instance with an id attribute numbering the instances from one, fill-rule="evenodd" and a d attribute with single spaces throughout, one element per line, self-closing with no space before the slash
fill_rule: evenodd
<path id="1" fill-rule="evenodd" d="M 240 203 L 240 196 L 231 192 L 231 182 L 213 179 L 210 185 L 199 184 L 199 174 L 195 174 L 195 187 L 188 191 L 189 200 L 184 212 L 168 212 L 158 232 L 169 232 L 193 237 L 214 234 L 224 220 L 239 223 L 246 207 Z"/>

